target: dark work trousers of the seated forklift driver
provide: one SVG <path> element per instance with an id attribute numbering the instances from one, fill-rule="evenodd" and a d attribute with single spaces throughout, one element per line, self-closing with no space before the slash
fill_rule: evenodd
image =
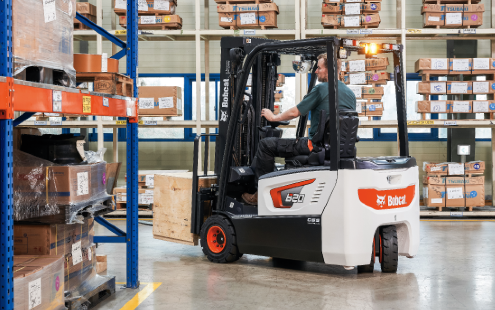
<path id="1" fill-rule="evenodd" d="M 256 152 L 256 179 L 275 171 L 275 157 L 309 155 L 308 138 L 284 139 L 268 137 L 261 139 Z"/>

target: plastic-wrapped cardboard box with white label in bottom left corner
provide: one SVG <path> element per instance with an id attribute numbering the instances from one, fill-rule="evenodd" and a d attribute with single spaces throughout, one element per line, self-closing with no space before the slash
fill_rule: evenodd
<path id="1" fill-rule="evenodd" d="M 14 256 L 14 309 L 63 310 L 63 256 Z"/>

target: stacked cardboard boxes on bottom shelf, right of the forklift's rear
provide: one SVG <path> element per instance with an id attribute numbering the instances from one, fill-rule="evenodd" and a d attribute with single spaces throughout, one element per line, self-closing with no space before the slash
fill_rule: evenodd
<path id="1" fill-rule="evenodd" d="M 427 207 L 485 206 L 484 162 L 424 163 L 423 201 Z"/>

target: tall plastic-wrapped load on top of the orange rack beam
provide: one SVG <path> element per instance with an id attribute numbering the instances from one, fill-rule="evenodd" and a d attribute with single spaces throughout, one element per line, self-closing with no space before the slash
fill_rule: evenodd
<path id="1" fill-rule="evenodd" d="M 30 66 L 63 70 L 75 81 L 75 0 L 13 0 L 14 76 Z M 64 85 L 70 86 L 70 85 Z"/>

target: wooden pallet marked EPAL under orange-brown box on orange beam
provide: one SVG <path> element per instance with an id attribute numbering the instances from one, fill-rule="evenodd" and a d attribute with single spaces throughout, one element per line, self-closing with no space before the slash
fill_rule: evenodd
<path id="1" fill-rule="evenodd" d="M 103 94 L 133 96 L 133 80 L 119 73 L 76 72 L 76 82 L 93 82 L 93 91 Z"/>

